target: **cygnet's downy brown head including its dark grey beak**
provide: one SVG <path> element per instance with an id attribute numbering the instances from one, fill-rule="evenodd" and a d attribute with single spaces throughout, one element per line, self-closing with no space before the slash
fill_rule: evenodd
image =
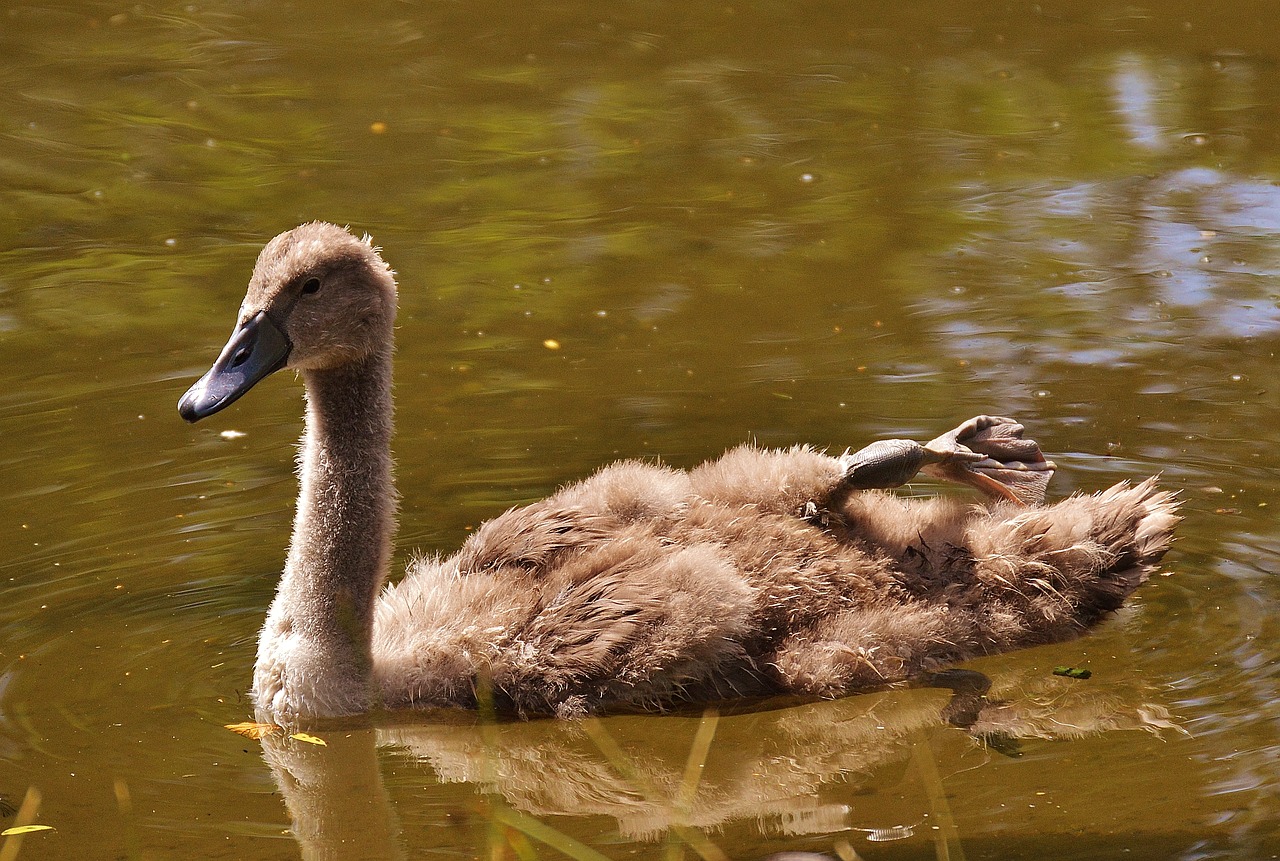
<path id="1" fill-rule="evenodd" d="M 390 348 L 396 274 L 367 237 L 312 221 L 266 243 L 230 339 L 178 402 L 200 421 L 234 403 L 268 375 L 320 371 Z"/>

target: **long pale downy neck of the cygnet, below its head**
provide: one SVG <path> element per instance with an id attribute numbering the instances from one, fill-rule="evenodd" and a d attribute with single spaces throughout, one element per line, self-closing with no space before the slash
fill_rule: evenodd
<path id="1" fill-rule="evenodd" d="M 375 705 L 374 605 L 394 523 L 390 351 L 302 377 L 298 507 L 255 687 L 273 711 L 356 714 Z"/>

